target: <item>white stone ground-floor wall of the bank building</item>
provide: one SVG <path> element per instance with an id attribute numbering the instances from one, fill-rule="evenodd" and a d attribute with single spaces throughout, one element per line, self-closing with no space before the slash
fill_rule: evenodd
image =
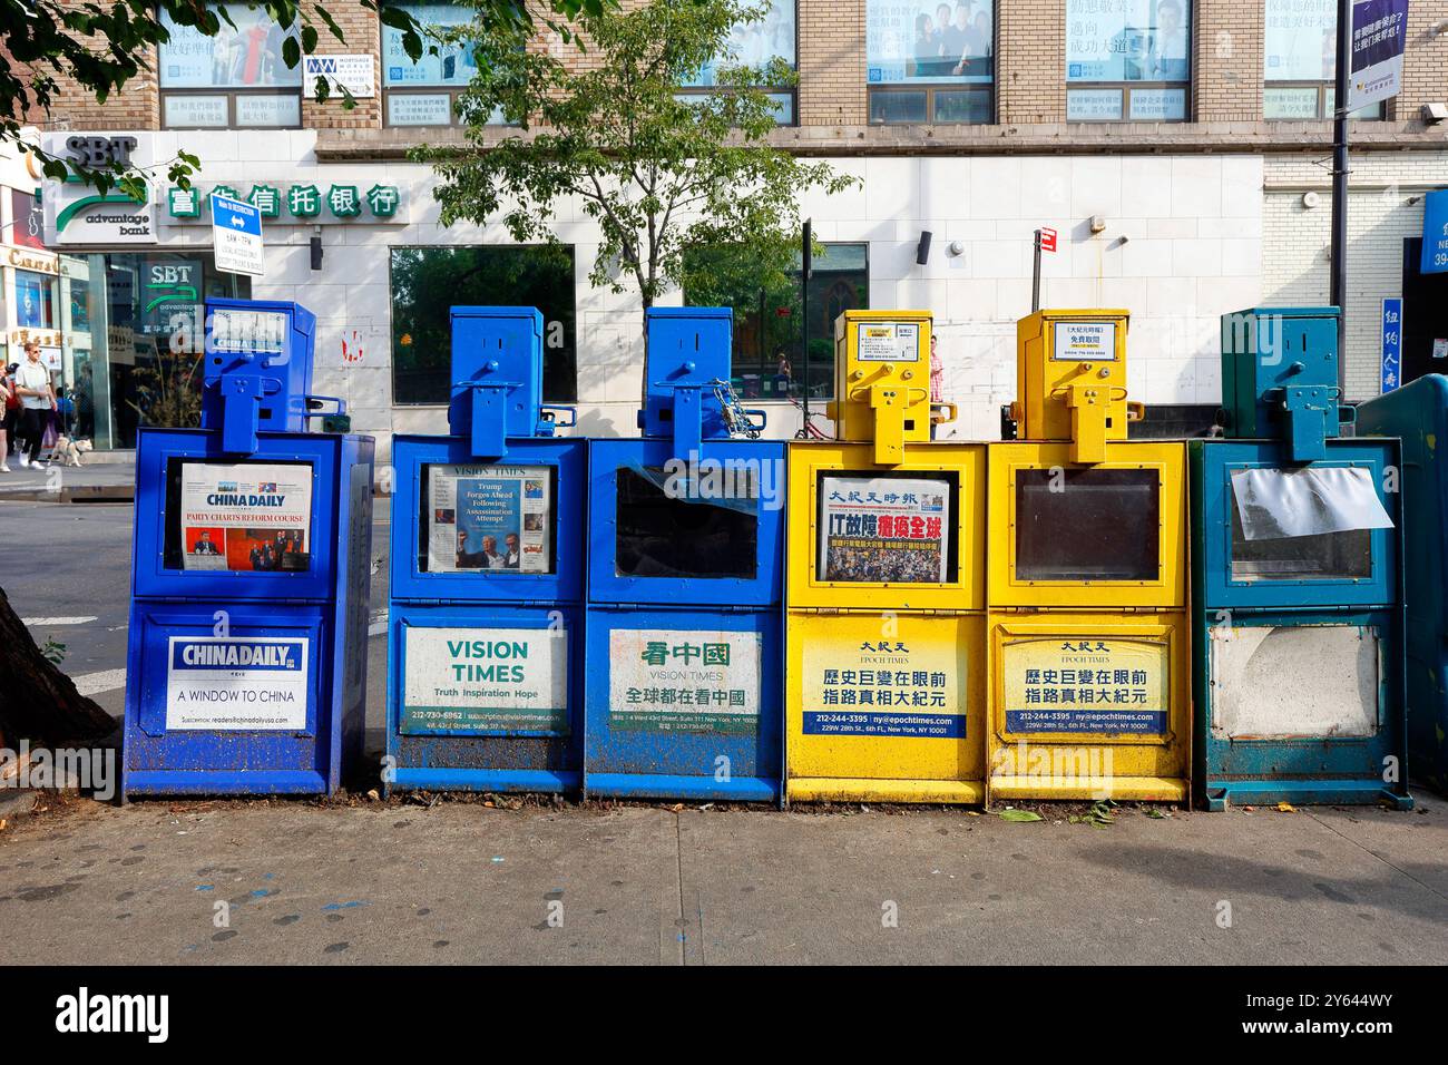
<path id="1" fill-rule="evenodd" d="M 158 135 L 167 138 L 172 135 Z M 413 164 L 317 164 L 314 133 L 187 133 L 206 159 L 200 187 L 253 181 L 362 188 L 391 183 L 403 193 L 392 225 L 323 226 L 324 261 L 310 270 L 310 226 L 268 229 L 268 272 L 258 297 L 298 300 L 319 317 L 320 393 L 343 396 L 353 426 L 445 432 L 443 407 L 391 404 L 388 248 L 510 242 L 501 226 L 437 225 L 432 175 Z M 165 143 L 158 143 L 164 158 Z M 870 245 L 870 304 L 924 307 L 935 314 L 947 398 L 961 406 L 947 436 L 990 439 L 1001 404 L 1015 393 L 1015 320 L 1030 312 L 1031 233 L 1060 232 L 1044 256 L 1047 307 L 1125 307 L 1132 313 L 1128 383 L 1148 403 L 1218 403 L 1218 316 L 1263 296 L 1263 159 L 1260 156 L 1002 156 L 849 158 L 834 165 L 863 187 L 809 196 L 802 214 L 821 241 Z M 1089 232 L 1099 214 L 1106 227 Z M 930 229 L 930 262 L 915 264 Z M 206 227 L 168 230 L 181 243 L 209 241 Z M 575 246 L 578 272 L 579 426 L 591 435 L 631 435 L 641 374 L 641 316 L 628 296 L 594 290 L 588 272 L 598 232 L 573 203 L 557 212 L 559 238 Z M 1125 238 L 1125 243 L 1122 243 Z M 947 254 L 960 241 L 963 254 Z M 678 294 L 672 298 L 678 303 Z M 669 300 L 666 300 L 669 301 Z M 342 345 L 361 343 L 361 362 Z M 752 401 L 753 406 L 753 401 Z M 789 436 L 798 416 L 770 410 L 770 435 Z M 385 448 L 385 443 L 384 443 Z"/>

